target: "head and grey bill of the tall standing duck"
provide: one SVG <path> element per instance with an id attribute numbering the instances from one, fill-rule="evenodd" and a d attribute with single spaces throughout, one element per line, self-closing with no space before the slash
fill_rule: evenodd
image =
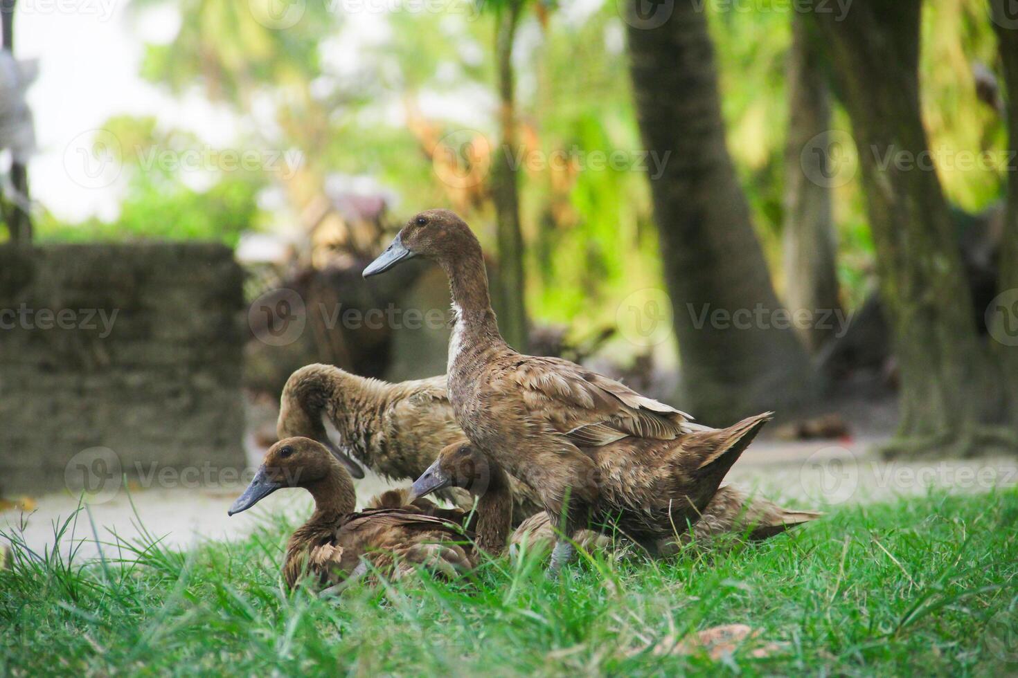
<path id="1" fill-rule="evenodd" d="M 366 268 L 363 275 L 378 275 L 393 266 L 421 256 L 442 260 L 444 255 L 460 254 L 480 245 L 470 227 L 448 209 L 429 209 L 406 223 L 395 240 Z"/>

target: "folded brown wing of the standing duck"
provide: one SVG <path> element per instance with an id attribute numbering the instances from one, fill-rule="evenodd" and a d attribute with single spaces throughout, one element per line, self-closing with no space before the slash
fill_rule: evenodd
<path id="1" fill-rule="evenodd" d="M 675 408 L 559 358 L 526 357 L 495 375 L 492 387 L 519 397 L 531 419 L 576 447 L 626 437 L 672 440 L 701 427 Z"/>

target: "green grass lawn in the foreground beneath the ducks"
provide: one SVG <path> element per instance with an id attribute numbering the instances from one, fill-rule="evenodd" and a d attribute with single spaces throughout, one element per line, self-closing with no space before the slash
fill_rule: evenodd
<path id="1" fill-rule="evenodd" d="M 0 675 L 1005 675 L 1018 671 L 1016 526 L 1014 491 L 937 494 L 665 562 L 599 555 L 560 581 L 505 559 L 473 580 L 421 575 L 338 601 L 283 589 L 280 522 L 185 553 L 113 538 L 98 563 L 8 535 Z M 781 649 L 719 663 L 641 652 L 735 622 Z"/>

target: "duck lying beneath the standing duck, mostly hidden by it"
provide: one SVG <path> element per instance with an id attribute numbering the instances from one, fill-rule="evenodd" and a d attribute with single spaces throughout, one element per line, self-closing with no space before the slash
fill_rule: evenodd
<path id="1" fill-rule="evenodd" d="M 499 490 L 504 487 L 501 479 L 505 476 L 505 472 L 476 447 L 469 443 L 453 443 L 439 452 L 435 463 L 414 481 L 409 490 L 399 490 L 398 501 L 421 502 L 423 497 L 444 487 L 468 490 L 478 498 L 478 519 L 471 528 L 478 536 L 485 536 L 489 552 L 500 553 L 508 533 L 506 526 L 510 522 L 506 513 L 512 508 L 511 503 L 499 496 Z M 493 489 L 494 494 L 490 496 L 489 492 Z M 749 541 L 760 541 L 821 515 L 815 511 L 784 508 L 762 498 L 753 499 L 733 485 L 723 485 L 691 529 L 676 526 L 676 532 L 656 545 L 656 551 L 663 555 L 671 554 L 679 545 L 690 542 L 710 545 L 714 538 L 726 533 L 745 536 Z M 509 548 L 518 550 L 525 544 L 530 551 L 548 553 L 555 541 L 551 517 L 547 512 L 539 511 L 512 532 Z M 582 530 L 577 534 L 576 543 L 582 549 L 593 551 L 608 548 L 613 539 L 591 530 Z"/>

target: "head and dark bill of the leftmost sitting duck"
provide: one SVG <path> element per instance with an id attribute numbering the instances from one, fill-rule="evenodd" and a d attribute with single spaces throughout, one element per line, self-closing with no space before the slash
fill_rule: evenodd
<path id="1" fill-rule="evenodd" d="M 230 515 L 245 511 L 262 499 L 284 487 L 310 488 L 339 469 L 332 452 L 310 438 L 284 438 L 265 453 L 247 489 L 230 506 Z M 352 486 L 352 481 L 350 481 Z"/>

